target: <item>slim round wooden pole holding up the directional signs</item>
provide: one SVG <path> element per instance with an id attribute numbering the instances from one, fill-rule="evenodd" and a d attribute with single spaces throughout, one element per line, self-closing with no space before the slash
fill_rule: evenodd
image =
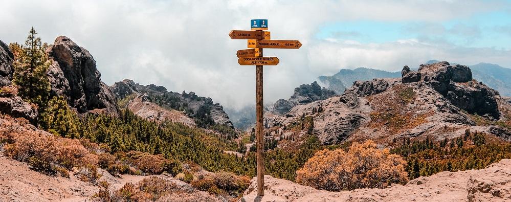
<path id="1" fill-rule="evenodd" d="M 262 31 L 261 31 L 262 32 Z M 260 49 L 262 57 L 262 49 Z M 262 65 L 256 65 L 257 195 L 264 196 Z"/>

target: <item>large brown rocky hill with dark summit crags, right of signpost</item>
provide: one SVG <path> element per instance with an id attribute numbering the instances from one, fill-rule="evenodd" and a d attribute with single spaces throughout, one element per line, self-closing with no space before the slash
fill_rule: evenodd
<path id="1" fill-rule="evenodd" d="M 286 126 L 313 115 L 313 133 L 326 145 L 367 139 L 389 145 L 409 137 L 440 141 L 466 129 L 511 141 L 510 109 L 497 91 L 473 79 L 468 66 L 438 62 L 417 71 L 405 66 L 402 78 L 356 81 L 341 96 L 296 105 L 286 116 L 266 113 L 265 123 L 281 131 L 276 138 L 299 139 L 307 131 Z"/>

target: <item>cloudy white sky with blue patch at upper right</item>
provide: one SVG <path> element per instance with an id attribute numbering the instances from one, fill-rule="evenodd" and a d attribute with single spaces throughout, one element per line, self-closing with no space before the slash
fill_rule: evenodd
<path id="1" fill-rule="evenodd" d="M 30 27 L 43 41 L 70 37 L 97 61 L 108 85 L 130 78 L 193 91 L 225 107 L 255 101 L 255 68 L 239 66 L 232 29 L 268 19 L 272 39 L 298 50 L 264 69 L 265 102 L 288 98 L 320 75 L 359 66 L 399 71 L 429 59 L 511 68 L 511 1 L 7 1 L 0 40 L 23 42 Z"/>

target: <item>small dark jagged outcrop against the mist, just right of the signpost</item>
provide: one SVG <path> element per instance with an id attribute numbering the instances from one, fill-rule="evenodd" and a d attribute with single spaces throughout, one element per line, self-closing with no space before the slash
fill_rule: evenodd
<path id="1" fill-rule="evenodd" d="M 303 105 L 317 100 L 325 100 L 337 95 L 336 92 L 321 87 L 318 82 L 314 81 L 310 85 L 302 84 L 295 88 L 295 93 L 290 99 L 279 99 L 275 103 L 272 112 L 277 115 L 285 115 L 291 108 L 296 105 Z"/>

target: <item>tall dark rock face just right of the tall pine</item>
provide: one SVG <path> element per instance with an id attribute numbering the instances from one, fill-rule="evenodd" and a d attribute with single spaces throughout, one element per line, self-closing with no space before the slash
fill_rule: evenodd
<path id="1" fill-rule="evenodd" d="M 47 72 L 53 96 L 67 98 L 78 113 L 101 110 L 118 115 L 117 99 L 101 81 L 96 61 L 87 50 L 68 37 L 59 36 L 47 52 L 53 59 Z"/>

